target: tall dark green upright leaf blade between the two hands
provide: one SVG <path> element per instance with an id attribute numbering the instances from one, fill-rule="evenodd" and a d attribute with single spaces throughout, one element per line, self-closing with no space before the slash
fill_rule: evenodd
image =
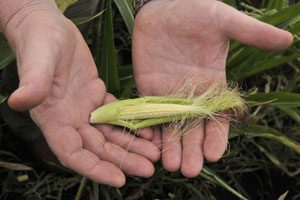
<path id="1" fill-rule="evenodd" d="M 101 49 L 101 65 L 99 75 L 104 81 L 108 92 L 120 95 L 120 83 L 117 68 L 117 54 L 114 42 L 111 0 L 107 0 L 104 16 L 103 46 Z"/>

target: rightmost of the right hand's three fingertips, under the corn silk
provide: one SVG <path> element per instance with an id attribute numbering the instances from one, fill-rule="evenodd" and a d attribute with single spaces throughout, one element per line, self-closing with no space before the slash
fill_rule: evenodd
<path id="1" fill-rule="evenodd" d="M 228 141 L 229 119 L 218 117 L 209 120 L 205 126 L 203 144 L 204 157 L 210 162 L 219 160 L 224 154 Z"/>

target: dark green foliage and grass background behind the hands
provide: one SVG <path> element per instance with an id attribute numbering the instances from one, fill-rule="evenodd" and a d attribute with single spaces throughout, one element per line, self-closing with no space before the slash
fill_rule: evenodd
<path id="1" fill-rule="evenodd" d="M 265 52 L 231 42 L 227 78 L 238 82 L 249 103 L 247 122 L 233 126 L 229 149 L 217 163 L 205 163 L 198 177 L 166 172 L 161 163 L 149 179 L 128 177 L 116 189 L 66 171 L 37 164 L 20 141 L 0 133 L 0 199 L 286 199 L 300 198 L 300 4 L 298 1 L 224 0 L 266 23 L 294 34 L 293 45 Z M 134 97 L 131 65 L 131 0 L 106 0 L 87 42 L 99 75 L 119 98 Z M 79 23 L 84 19 L 73 19 Z M 14 61 L 0 44 L 0 69 Z M 25 181 L 18 181 L 18 177 Z M 28 176 L 28 178 L 26 178 Z M 283 196 L 282 196 L 283 198 Z"/>

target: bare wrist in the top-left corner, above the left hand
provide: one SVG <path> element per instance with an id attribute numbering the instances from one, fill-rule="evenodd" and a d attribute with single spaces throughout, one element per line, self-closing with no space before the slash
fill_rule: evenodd
<path id="1" fill-rule="evenodd" d="M 36 10 L 58 10 L 54 0 L 0 0 L 0 29 L 7 36 Z"/>

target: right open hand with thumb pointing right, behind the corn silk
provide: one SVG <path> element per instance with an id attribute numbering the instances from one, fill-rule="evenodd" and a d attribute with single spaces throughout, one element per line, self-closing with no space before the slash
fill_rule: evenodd
<path id="1" fill-rule="evenodd" d="M 287 48 L 293 36 L 246 16 L 216 0 L 152 0 L 137 14 L 133 32 L 133 65 L 141 95 L 176 93 L 193 73 L 199 90 L 226 82 L 229 40 L 263 50 Z M 229 120 L 203 122 L 182 140 L 172 127 L 162 130 L 162 160 L 168 171 L 199 174 L 204 157 L 214 162 L 227 146 Z"/>

